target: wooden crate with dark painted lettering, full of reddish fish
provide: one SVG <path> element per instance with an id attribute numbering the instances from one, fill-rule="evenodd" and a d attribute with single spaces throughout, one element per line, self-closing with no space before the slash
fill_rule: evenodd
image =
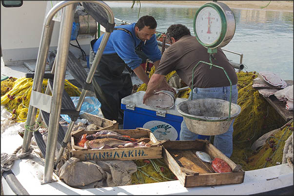
<path id="1" fill-rule="evenodd" d="M 137 160 L 137 159 L 160 159 L 162 158 L 162 146 L 157 141 L 153 133 L 149 129 L 117 129 L 112 130 L 121 135 L 127 135 L 135 139 L 148 137 L 154 143 L 151 147 L 132 147 L 132 148 L 111 148 L 111 149 L 85 149 L 75 145 L 75 138 L 81 134 L 94 134 L 94 131 L 80 131 L 72 133 L 71 145 L 73 157 L 80 160 Z"/>

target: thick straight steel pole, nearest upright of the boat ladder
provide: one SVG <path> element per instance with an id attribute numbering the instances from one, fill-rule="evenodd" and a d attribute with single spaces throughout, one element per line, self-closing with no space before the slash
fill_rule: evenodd
<path id="1" fill-rule="evenodd" d="M 48 140 L 45 158 L 44 182 L 52 180 L 53 165 L 55 157 L 56 142 L 59 129 L 59 118 L 61 110 L 61 100 L 64 89 L 64 79 L 66 71 L 66 62 L 70 44 L 70 36 L 73 27 L 74 14 L 77 3 L 66 6 L 62 12 L 62 19 L 59 32 L 58 55 L 55 67 L 53 82 L 51 113 L 48 125 Z"/>

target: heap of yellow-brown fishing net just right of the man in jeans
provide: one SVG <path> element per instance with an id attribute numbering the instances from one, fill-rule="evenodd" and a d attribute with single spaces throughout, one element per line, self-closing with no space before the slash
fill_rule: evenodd
<path id="1" fill-rule="evenodd" d="M 242 165 L 243 170 L 253 170 L 250 149 L 252 144 L 263 134 L 281 127 L 286 122 L 258 92 L 252 88 L 254 72 L 237 72 L 238 101 L 241 112 L 234 122 L 233 154 L 231 160 Z"/>

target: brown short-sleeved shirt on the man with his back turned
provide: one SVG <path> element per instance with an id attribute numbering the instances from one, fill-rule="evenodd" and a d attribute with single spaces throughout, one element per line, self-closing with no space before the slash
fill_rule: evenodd
<path id="1" fill-rule="evenodd" d="M 232 81 L 232 85 L 237 84 L 238 79 L 235 69 L 220 48 L 217 49 L 217 53 L 214 56 L 216 60 L 212 60 L 212 63 L 224 68 Z M 179 77 L 191 88 L 192 70 L 199 61 L 210 63 L 207 48 L 203 47 L 195 36 L 182 36 L 176 43 L 164 51 L 155 73 L 166 75 L 170 71 L 176 70 Z M 230 86 L 230 82 L 222 69 L 214 66 L 210 69 L 210 66 L 205 63 L 199 63 L 195 68 L 194 87 L 211 88 L 226 86 Z"/>

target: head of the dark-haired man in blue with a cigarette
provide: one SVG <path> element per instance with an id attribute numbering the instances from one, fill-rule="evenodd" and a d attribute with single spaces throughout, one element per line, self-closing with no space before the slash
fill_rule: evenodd
<path id="1" fill-rule="evenodd" d="M 156 31 L 157 22 L 152 16 L 139 18 L 135 25 L 136 36 L 142 41 L 149 40 Z"/>

